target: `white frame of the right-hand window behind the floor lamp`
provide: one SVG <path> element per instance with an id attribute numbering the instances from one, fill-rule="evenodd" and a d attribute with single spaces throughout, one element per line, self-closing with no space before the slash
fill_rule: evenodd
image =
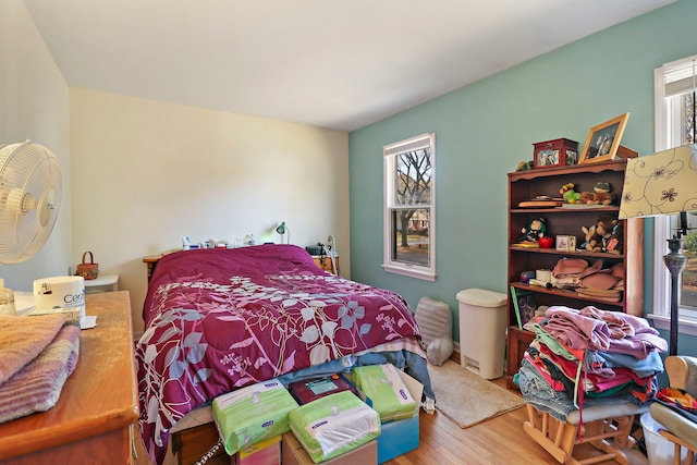
<path id="1" fill-rule="evenodd" d="M 653 95 L 655 95 L 655 147 L 656 151 L 667 150 L 671 147 L 682 145 L 680 134 L 674 134 L 669 124 L 669 119 L 680 118 L 675 114 L 676 109 L 672 108 L 667 97 L 665 75 L 675 75 L 682 85 L 689 85 L 693 79 L 690 68 L 697 56 L 687 57 L 682 60 L 672 61 L 653 70 Z M 682 70 L 682 74 L 676 70 Z M 686 74 L 687 73 L 687 74 Z M 680 86 L 676 81 L 673 86 Z M 686 83 L 687 81 L 687 83 Z M 694 83 L 694 79 L 693 79 Z M 670 330 L 670 273 L 663 262 L 663 256 L 668 254 L 665 241 L 671 237 L 671 229 L 675 228 L 676 219 L 668 216 L 653 217 L 653 306 L 648 310 L 647 317 L 653 320 L 657 328 Z M 680 309 L 678 331 L 683 334 L 697 335 L 697 313 L 685 308 Z"/>

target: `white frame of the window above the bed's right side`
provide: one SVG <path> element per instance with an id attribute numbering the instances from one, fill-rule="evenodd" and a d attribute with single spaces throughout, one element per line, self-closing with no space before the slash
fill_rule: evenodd
<path id="1" fill-rule="evenodd" d="M 407 264 L 392 259 L 392 211 L 395 207 L 395 163 L 400 154 L 430 147 L 431 157 L 431 188 L 430 204 L 419 204 L 415 208 L 429 208 L 429 266 Z M 436 281 L 436 133 L 426 133 L 394 144 L 386 145 L 383 155 L 383 261 L 382 268 L 391 273 L 403 274 L 411 278 Z"/>

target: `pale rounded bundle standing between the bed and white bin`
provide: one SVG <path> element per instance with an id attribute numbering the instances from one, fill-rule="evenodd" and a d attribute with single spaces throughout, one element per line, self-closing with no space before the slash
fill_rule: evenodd
<path id="1" fill-rule="evenodd" d="M 441 366 L 453 354 L 453 315 L 444 302 L 421 297 L 416 306 L 416 323 L 426 344 L 430 364 Z"/>

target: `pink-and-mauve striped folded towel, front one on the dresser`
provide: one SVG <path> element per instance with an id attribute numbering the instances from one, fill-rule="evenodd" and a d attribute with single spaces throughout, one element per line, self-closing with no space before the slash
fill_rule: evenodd
<path id="1" fill-rule="evenodd" d="M 38 356 L 0 384 L 0 423 L 45 412 L 56 405 L 65 379 L 77 365 L 78 354 L 80 325 L 68 321 Z"/>

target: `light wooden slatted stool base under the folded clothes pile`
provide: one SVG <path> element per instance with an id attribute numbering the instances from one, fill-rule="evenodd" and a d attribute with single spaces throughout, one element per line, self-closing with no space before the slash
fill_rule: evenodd
<path id="1" fill-rule="evenodd" d="M 629 436 L 634 417 L 647 411 L 648 406 L 635 404 L 587 407 L 583 409 L 582 426 L 578 411 L 568 414 L 566 421 L 560 421 L 527 404 L 528 421 L 525 421 L 523 427 L 525 432 L 559 463 L 580 465 L 615 460 L 623 465 L 629 465 L 629 460 L 620 448 L 634 446 L 634 438 Z M 610 442 L 610 439 L 613 439 L 613 442 Z M 582 442 L 592 444 L 604 454 L 584 460 L 575 458 L 574 446 Z"/>

